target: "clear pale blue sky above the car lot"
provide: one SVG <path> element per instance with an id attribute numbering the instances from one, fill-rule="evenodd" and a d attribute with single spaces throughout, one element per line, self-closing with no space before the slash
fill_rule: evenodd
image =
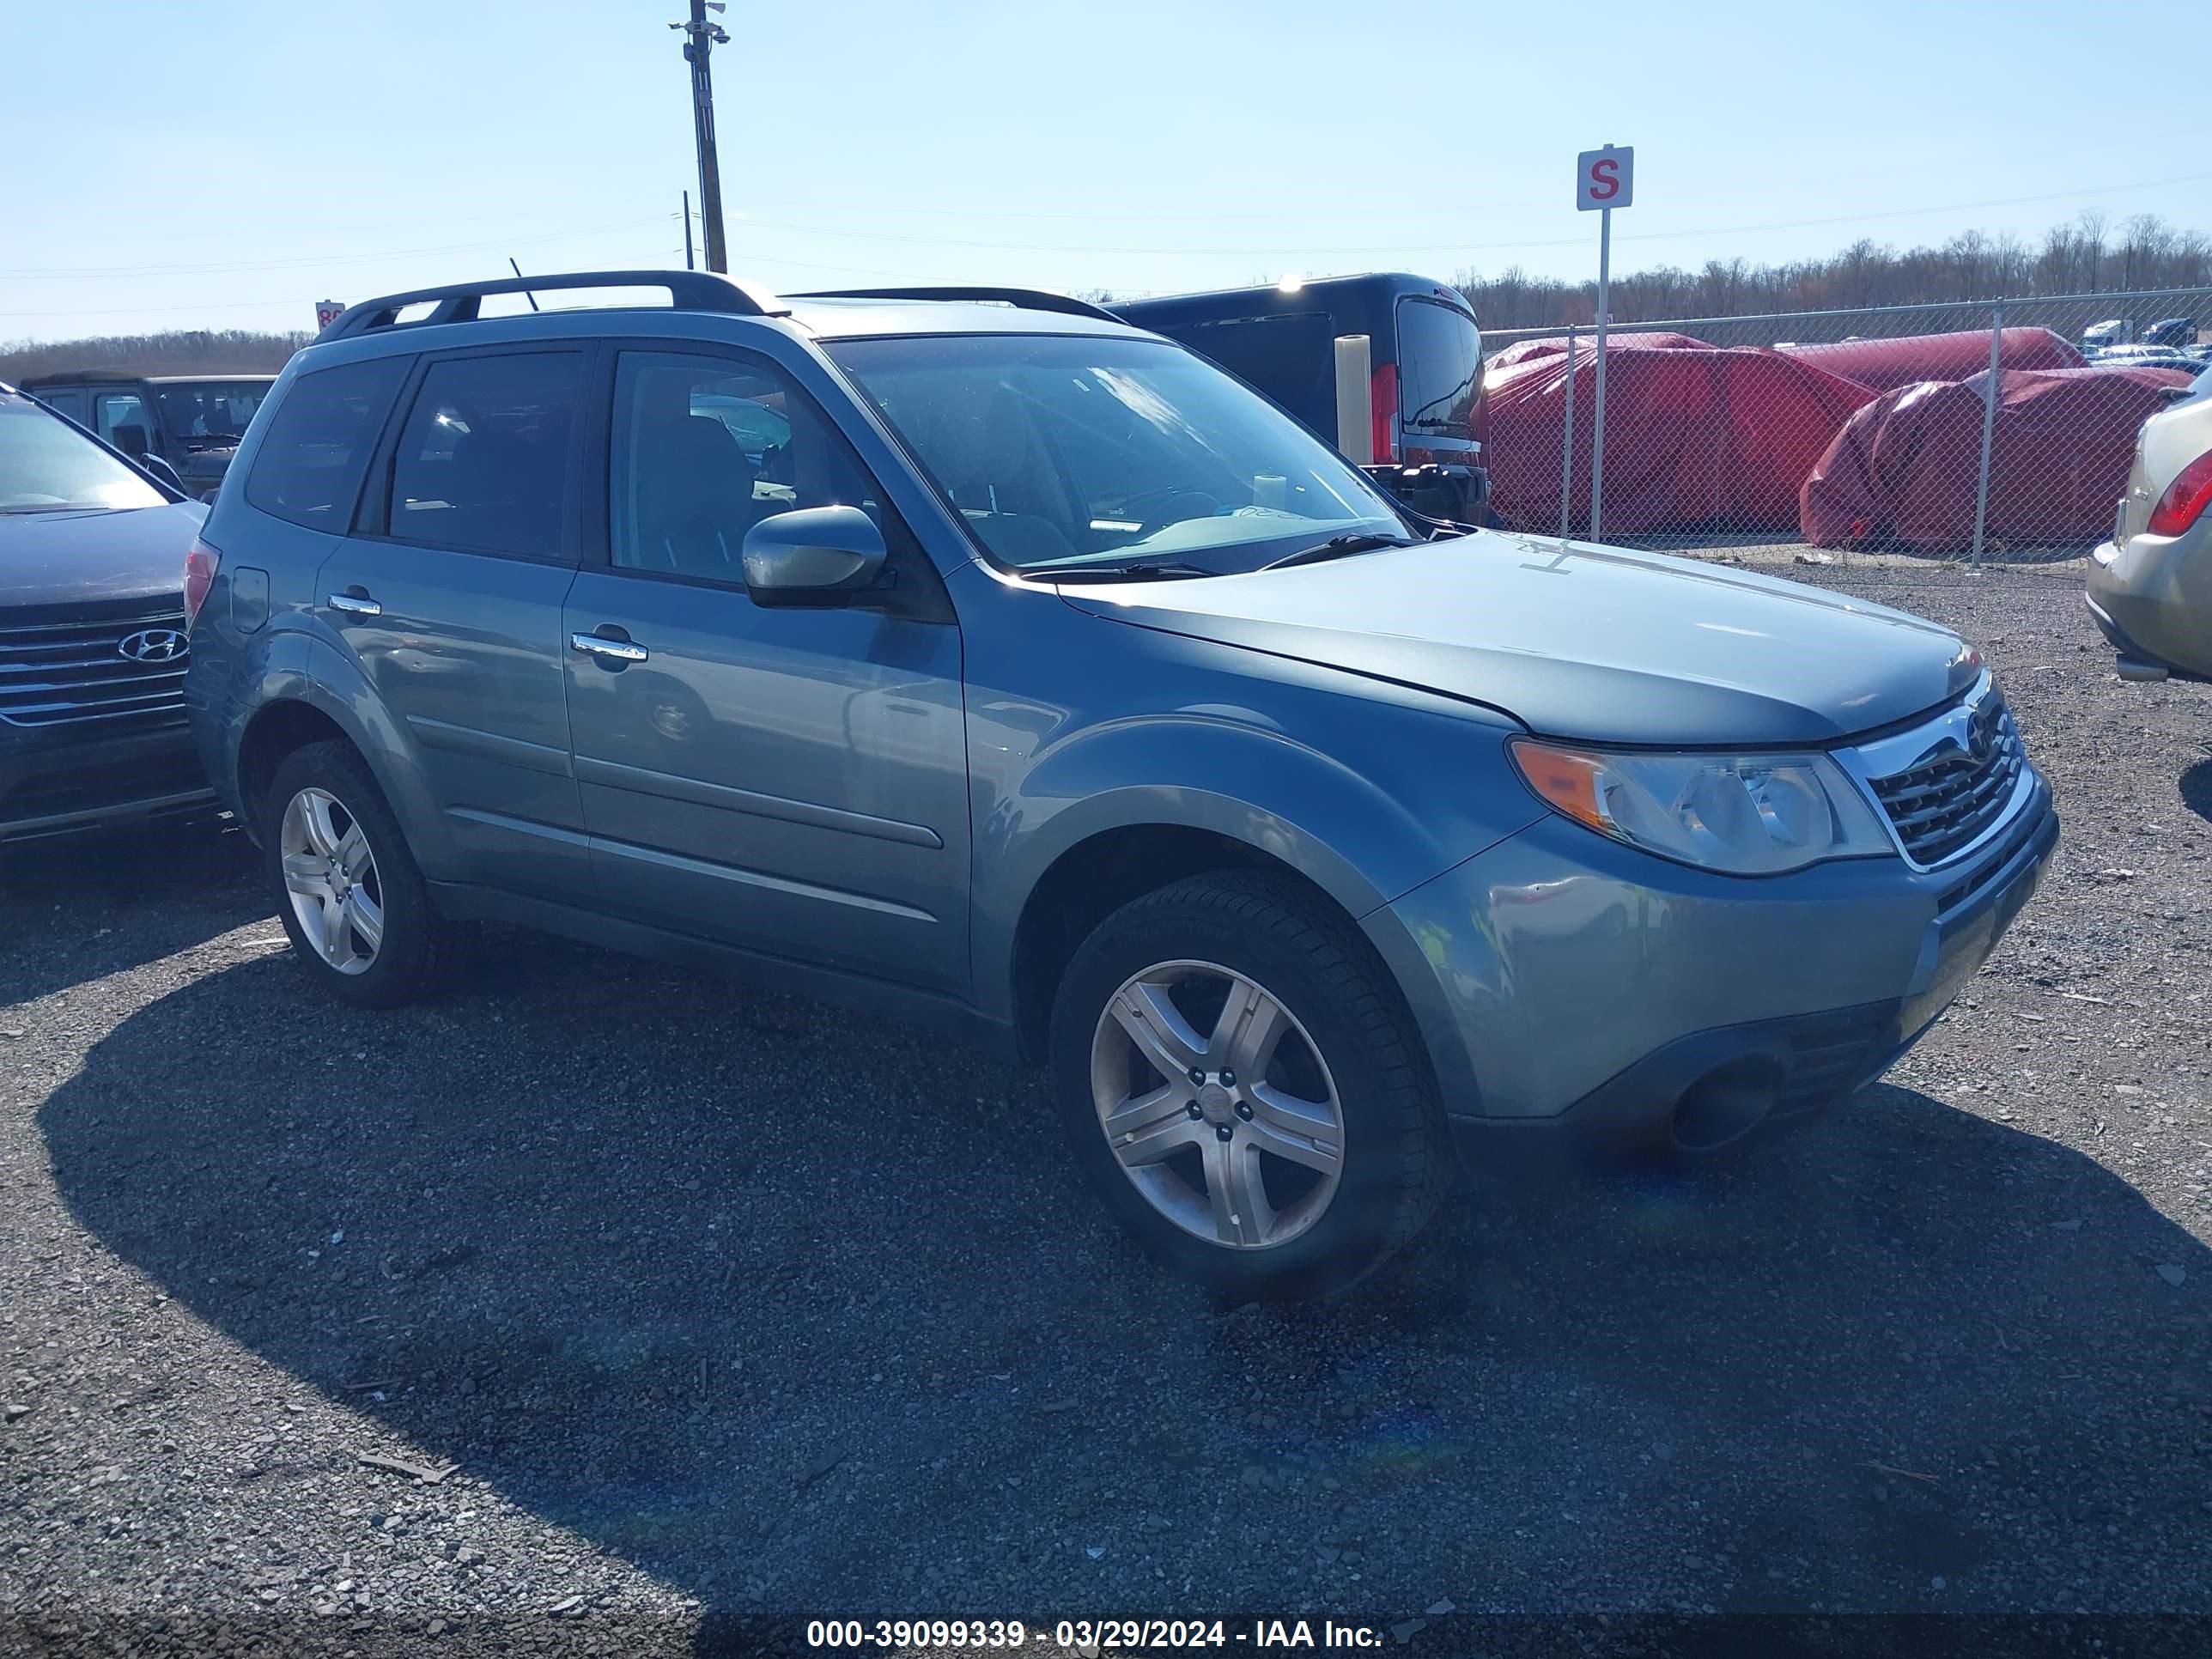
<path id="1" fill-rule="evenodd" d="M 509 254 L 679 265 L 679 13 L 0 0 L 0 341 L 312 327 L 316 299 Z M 1601 142 L 1637 146 L 1619 268 L 2033 239 L 2084 208 L 2212 230 L 2212 153 L 2148 69 L 2201 38 L 2190 4 L 732 0 L 723 22 L 732 270 L 785 290 L 1582 274 L 1573 161 Z"/>

